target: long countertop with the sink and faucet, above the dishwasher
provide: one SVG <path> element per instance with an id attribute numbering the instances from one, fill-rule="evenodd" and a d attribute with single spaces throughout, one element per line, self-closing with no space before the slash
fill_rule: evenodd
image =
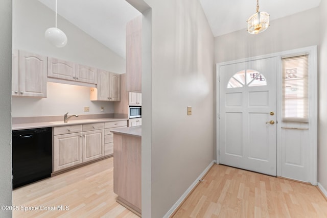
<path id="1" fill-rule="evenodd" d="M 24 130 L 24 129 L 34 129 L 34 128 L 43 128 L 43 127 L 57 127 L 57 126 L 102 123 L 102 122 L 104 123 L 104 122 L 114 122 L 120 120 L 128 120 L 128 118 L 69 119 L 67 123 L 64 123 L 63 121 L 54 121 L 54 122 L 42 122 L 42 123 L 13 124 L 12 130 Z"/>

